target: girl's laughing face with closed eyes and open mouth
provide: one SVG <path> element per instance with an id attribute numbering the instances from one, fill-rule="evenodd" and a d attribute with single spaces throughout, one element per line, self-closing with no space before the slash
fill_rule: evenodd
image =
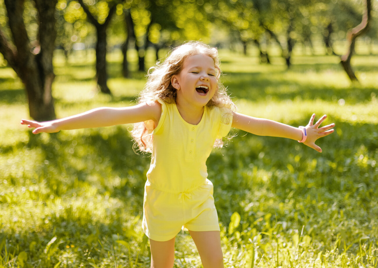
<path id="1" fill-rule="evenodd" d="M 181 72 L 172 76 L 171 82 L 178 90 L 177 104 L 204 107 L 218 86 L 213 59 L 202 54 L 190 56 L 184 61 Z"/>

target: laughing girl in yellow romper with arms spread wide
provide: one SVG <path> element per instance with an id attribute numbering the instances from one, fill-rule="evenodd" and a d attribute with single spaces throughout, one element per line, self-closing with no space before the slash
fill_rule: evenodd
<path id="1" fill-rule="evenodd" d="M 152 153 L 143 205 L 151 267 L 173 267 L 181 228 L 189 230 L 204 268 L 223 267 L 206 159 L 214 146 L 222 146 L 231 127 L 298 140 L 318 152 L 322 150 L 315 141 L 333 132 L 334 124 L 319 128 L 325 115 L 314 124 L 313 114 L 307 126 L 295 128 L 235 112 L 219 81 L 219 64 L 216 48 L 189 42 L 149 71 L 138 105 L 98 108 L 50 122 L 21 121 L 35 128 L 34 134 L 135 123 L 132 135 L 139 149 Z"/>

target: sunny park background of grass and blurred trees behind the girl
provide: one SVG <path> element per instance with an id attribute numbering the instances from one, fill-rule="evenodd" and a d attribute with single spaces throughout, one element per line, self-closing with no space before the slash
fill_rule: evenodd
<path id="1" fill-rule="evenodd" d="M 367 3 L 351 81 L 340 55 Z M 376 0 L 0 0 L 0 267 L 149 266 L 150 158 L 133 151 L 132 126 L 35 136 L 19 122 L 133 105 L 146 70 L 187 40 L 218 47 L 239 112 L 336 123 L 321 154 L 242 131 L 214 150 L 225 267 L 377 267 L 377 9 Z M 200 267 L 187 233 L 176 249 L 175 267 Z"/>

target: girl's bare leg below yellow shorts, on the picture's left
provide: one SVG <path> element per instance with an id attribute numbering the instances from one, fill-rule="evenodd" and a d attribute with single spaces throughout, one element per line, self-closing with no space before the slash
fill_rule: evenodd
<path id="1" fill-rule="evenodd" d="M 172 268 L 175 262 L 175 237 L 168 241 L 150 239 L 151 268 Z"/>

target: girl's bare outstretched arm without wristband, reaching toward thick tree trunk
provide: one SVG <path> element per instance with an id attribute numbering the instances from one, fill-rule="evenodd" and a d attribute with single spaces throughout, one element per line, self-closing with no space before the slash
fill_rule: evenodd
<path id="1" fill-rule="evenodd" d="M 48 122 L 36 122 L 32 120 L 21 120 L 22 125 L 35 128 L 34 134 L 40 132 L 53 133 L 60 130 L 79 128 L 98 128 L 103 126 L 114 126 L 153 120 L 158 124 L 161 115 L 161 104 L 141 103 L 124 108 L 96 108 L 82 114 L 57 119 Z"/>

